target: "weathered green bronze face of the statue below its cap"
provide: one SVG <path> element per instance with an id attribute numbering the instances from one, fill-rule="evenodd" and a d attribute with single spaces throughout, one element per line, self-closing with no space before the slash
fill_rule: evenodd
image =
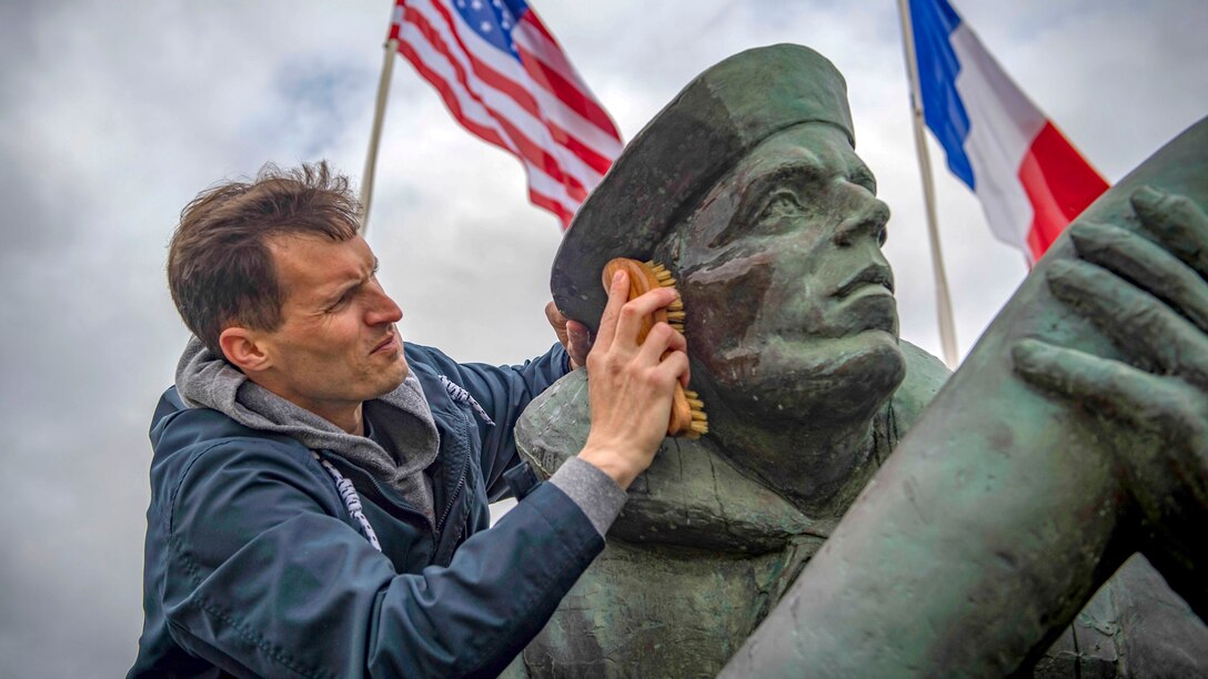
<path id="1" fill-rule="evenodd" d="M 889 209 L 875 191 L 841 130 L 797 126 L 751 151 L 664 243 L 690 350 L 719 389 L 754 395 L 762 412 L 863 416 L 871 404 L 835 397 L 871 388 L 881 402 L 896 387 Z"/>

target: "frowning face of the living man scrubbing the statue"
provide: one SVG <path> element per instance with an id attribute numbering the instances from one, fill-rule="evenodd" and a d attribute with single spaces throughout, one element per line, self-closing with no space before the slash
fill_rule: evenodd
<path id="1" fill-rule="evenodd" d="M 368 244 L 284 236 L 269 249 L 284 323 L 263 335 L 272 368 L 257 382 L 327 419 L 397 388 L 407 376 L 402 312 L 378 284 Z"/>

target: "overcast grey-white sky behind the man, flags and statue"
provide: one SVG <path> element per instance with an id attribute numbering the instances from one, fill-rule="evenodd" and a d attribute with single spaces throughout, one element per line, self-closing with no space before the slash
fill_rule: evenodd
<path id="1" fill-rule="evenodd" d="M 1208 114 L 1203 0 L 957 1 L 1109 181 Z M 847 76 L 858 152 L 892 205 L 902 336 L 939 353 L 896 4 L 536 7 L 626 139 L 692 76 L 801 42 Z M 181 207 L 266 161 L 358 176 L 389 0 L 0 2 L 0 675 L 114 677 L 141 625 L 146 430 L 186 332 L 164 285 Z M 937 169 L 962 355 L 1026 269 Z M 511 362 L 561 232 L 519 163 L 457 127 L 397 60 L 368 240 L 408 341 Z"/>

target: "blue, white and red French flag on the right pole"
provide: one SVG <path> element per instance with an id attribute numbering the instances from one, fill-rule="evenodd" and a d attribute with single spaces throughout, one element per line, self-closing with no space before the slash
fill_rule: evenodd
<path id="1" fill-rule="evenodd" d="M 994 236 L 1039 260 L 1108 182 L 946 0 L 910 0 L 923 117 Z"/>

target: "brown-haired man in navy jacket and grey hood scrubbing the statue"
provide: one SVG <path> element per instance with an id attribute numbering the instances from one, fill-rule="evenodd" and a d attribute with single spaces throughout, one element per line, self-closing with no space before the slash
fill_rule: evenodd
<path id="1" fill-rule="evenodd" d="M 586 356 L 591 441 L 532 487 L 512 426 L 582 343 L 503 368 L 405 346 L 356 214 L 320 163 L 181 215 L 168 279 L 196 338 L 152 423 L 132 677 L 493 675 L 603 549 L 663 437 L 685 343 L 666 324 L 635 338 L 673 292 L 626 302 L 614 280 Z M 522 501 L 486 530 L 509 486 Z"/>

